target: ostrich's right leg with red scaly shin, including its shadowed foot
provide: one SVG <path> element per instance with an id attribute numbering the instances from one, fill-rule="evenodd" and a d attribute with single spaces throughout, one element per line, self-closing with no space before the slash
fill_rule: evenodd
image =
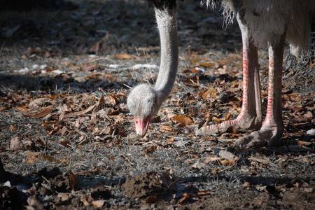
<path id="1" fill-rule="evenodd" d="M 281 143 L 279 141 L 283 133 L 281 86 L 285 37 L 286 35 L 283 34 L 277 43 L 269 45 L 269 81 L 265 121 L 258 132 L 239 139 L 236 142 L 237 146 L 257 148 L 265 146 L 265 144 L 277 146 Z"/>

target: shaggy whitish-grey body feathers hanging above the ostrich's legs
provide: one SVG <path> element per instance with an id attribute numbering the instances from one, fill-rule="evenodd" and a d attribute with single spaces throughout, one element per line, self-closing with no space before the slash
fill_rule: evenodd
<path id="1" fill-rule="evenodd" d="M 214 7 L 214 0 L 202 3 Z M 258 47 L 266 47 L 268 41 L 286 30 L 290 50 L 297 55 L 309 41 L 310 18 L 315 10 L 314 0 L 222 0 L 225 20 L 231 22 L 238 10 L 244 10 L 244 20 Z"/>

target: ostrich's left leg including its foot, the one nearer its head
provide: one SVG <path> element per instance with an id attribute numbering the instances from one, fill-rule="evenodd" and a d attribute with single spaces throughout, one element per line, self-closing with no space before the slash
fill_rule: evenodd
<path id="1" fill-rule="evenodd" d="M 235 120 L 227 120 L 216 125 L 209 125 L 197 130 L 197 134 L 212 134 L 225 132 L 230 127 L 246 130 L 259 130 L 262 123 L 260 79 L 258 51 L 248 34 L 248 27 L 240 13 L 237 13 L 237 22 L 241 29 L 243 43 L 243 101 L 241 113 Z"/>

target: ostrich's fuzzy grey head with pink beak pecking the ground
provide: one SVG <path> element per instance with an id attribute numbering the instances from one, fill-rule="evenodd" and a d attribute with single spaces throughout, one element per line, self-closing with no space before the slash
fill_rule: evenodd
<path id="1" fill-rule="evenodd" d="M 151 118 L 159 109 L 157 91 L 150 85 L 137 85 L 128 96 L 127 106 L 134 116 L 137 134 L 144 137 Z"/>

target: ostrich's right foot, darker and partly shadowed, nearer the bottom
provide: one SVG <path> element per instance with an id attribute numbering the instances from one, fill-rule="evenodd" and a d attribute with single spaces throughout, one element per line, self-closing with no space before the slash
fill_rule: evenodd
<path id="1" fill-rule="evenodd" d="M 283 127 L 279 125 L 262 125 L 261 129 L 252 132 L 235 142 L 240 148 L 259 148 L 267 144 L 268 147 L 278 146 L 283 133 Z"/>

